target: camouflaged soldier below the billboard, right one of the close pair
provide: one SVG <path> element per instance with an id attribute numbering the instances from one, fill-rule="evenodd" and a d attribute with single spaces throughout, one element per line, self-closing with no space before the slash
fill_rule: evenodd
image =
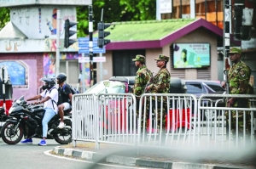
<path id="1" fill-rule="evenodd" d="M 157 67 L 160 68 L 156 76 L 153 76 L 150 80 L 150 84 L 148 87 L 146 87 L 146 91 L 148 93 L 169 93 L 170 89 L 170 81 L 171 81 L 171 74 L 169 70 L 166 68 L 166 64 L 169 61 L 169 57 L 163 54 L 160 54 L 158 58 L 154 59 L 156 60 L 156 65 Z M 152 98 L 152 109 L 154 110 L 154 97 Z M 166 106 L 166 98 L 163 99 L 164 104 L 163 104 L 163 116 L 160 116 L 160 98 L 158 101 L 158 119 L 157 119 L 157 124 L 160 125 L 160 119 L 162 118 L 162 126 L 164 127 L 165 121 L 166 121 L 166 113 L 167 113 L 167 106 Z M 149 116 L 149 101 L 147 101 L 147 116 Z"/>

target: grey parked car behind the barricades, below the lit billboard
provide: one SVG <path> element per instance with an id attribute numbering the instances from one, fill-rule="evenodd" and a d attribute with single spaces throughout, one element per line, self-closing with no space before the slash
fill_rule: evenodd
<path id="1" fill-rule="evenodd" d="M 201 96 L 201 94 L 224 94 L 225 90 L 221 87 L 220 82 L 218 81 L 209 81 L 209 80 L 184 80 L 186 86 L 188 88 L 187 93 L 195 94 L 197 98 Z M 215 106 L 217 100 L 218 107 L 224 107 L 223 98 L 216 98 L 216 97 L 207 97 L 206 99 L 212 100 L 212 106 Z M 209 104 L 209 101 L 203 101 L 203 105 Z M 192 105 L 193 107 L 193 105 Z M 213 120 L 215 117 L 215 110 L 204 110 L 201 112 L 201 120 Z M 193 114 L 193 113 L 192 113 Z M 220 115 L 217 111 L 217 116 Z"/>

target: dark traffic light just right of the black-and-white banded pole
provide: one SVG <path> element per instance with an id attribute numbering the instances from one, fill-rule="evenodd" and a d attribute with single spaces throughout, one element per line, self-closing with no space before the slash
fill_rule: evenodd
<path id="1" fill-rule="evenodd" d="M 104 22 L 98 23 L 98 44 L 97 46 L 99 48 L 103 48 L 106 44 L 110 42 L 109 39 L 105 39 L 104 37 L 107 37 L 110 35 L 109 31 L 104 31 L 107 29 L 111 24 L 105 24 Z"/>

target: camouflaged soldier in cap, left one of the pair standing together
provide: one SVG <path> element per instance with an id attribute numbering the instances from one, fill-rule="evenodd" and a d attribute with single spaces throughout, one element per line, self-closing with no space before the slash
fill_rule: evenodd
<path id="1" fill-rule="evenodd" d="M 145 87 L 152 76 L 152 72 L 148 70 L 147 66 L 145 65 L 145 57 L 143 55 L 137 54 L 135 59 L 132 59 L 135 62 L 135 65 L 139 67 L 135 77 L 135 83 L 133 87 L 133 93 L 137 99 L 137 116 L 139 113 L 139 100 L 141 95 L 145 91 Z M 142 116 L 143 119 L 143 116 Z"/>

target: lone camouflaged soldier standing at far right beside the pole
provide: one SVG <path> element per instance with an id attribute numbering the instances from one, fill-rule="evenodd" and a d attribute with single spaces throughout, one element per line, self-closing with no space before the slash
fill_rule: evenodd
<path id="1" fill-rule="evenodd" d="M 251 69 L 241 61 L 241 49 L 230 48 L 230 61 L 233 63 L 229 70 L 228 78 L 230 81 L 230 94 L 249 94 L 248 89 L 249 80 L 251 76 Z M 222 87 L 225 86 L 222 82 Z M 249 100 L 246 98 L 230 98 L 226 103 L 227 107 L 249 108 Z M 225 113 L 228 116 L 228 112 Z M 246 133 L 250 133 L 251 115 L 246 112 Z M 231 112 L 231 129 L 233 134 L 236 134 L 236 111 Z M 242 134 L 243 131 L 243 112 L 238 111 L 238 133 Z"/>

